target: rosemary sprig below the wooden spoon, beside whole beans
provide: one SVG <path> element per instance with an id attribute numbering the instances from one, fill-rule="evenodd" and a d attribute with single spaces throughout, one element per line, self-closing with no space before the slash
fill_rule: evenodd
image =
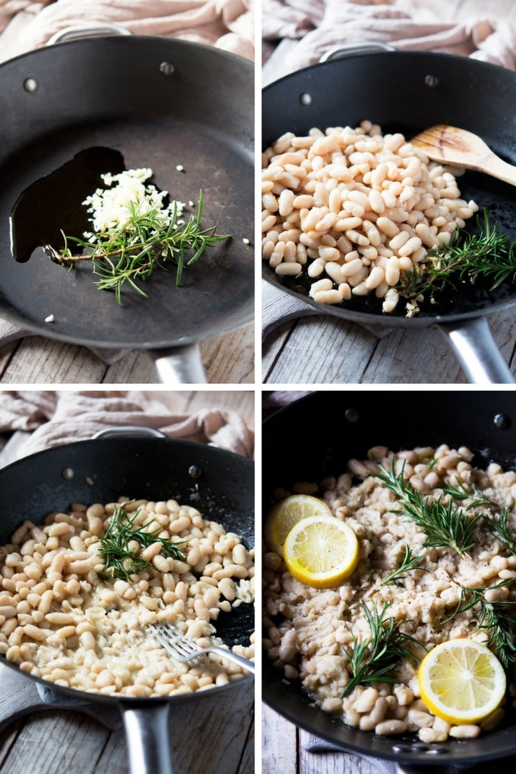
<path id="1" fill-rule="evenodd" d="M 449 245 L 439 245 L 427 252 L 425 262 L 404 272 L 397 289 L 409 300 L 431 296 L 446 285 L 457 282 L 474 283 L 479 278 L 490 281 L 495 290 L 507 279 L 516 280 L 516 241 L 500 234 L 498 225 L 491 224 L 487 211 L 477 217 L 478 234 L 467 234 L 463 228 L 453 231 Z"/>

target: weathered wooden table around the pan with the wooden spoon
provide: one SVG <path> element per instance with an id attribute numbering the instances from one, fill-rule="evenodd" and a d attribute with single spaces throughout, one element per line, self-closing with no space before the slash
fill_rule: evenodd
<path id="1" fill-rule="evenodd" d="M 514 22 L 514 0 L 413 0 L 412 5 L 434 8 L 439 19 L 471 17 Z M 263 82 L 286 74 L 285 55 L 297 42 L 282 40 L 263 67 Z M 266 286 L 267 283 L 264 283 Z M 262 291 L 264 310 L 273 303 L 270 286 Z M 277 293 L 278 291 L 276 291 Z M 308 307 L 311 311 L 311 307 Z M 264 319 L 265 314 L 264 314 Z M 516 320 L 511 310 L 490 314 L 490 330 L 504 360 L 516 375 Z M 379 333 L 378 333 L 379 331 Z M 436 328 L 425 330 L 367 330 L 361 325 L 321 314 L 290 320 L 276 327 L 263 342 L 264 383 L 383 383 L 453 384 L 466 382 L 455 354 Z"/>

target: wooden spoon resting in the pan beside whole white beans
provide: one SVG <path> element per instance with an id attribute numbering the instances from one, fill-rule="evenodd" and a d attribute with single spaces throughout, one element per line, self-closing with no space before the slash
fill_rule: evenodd
<path id="1" fill-rule="evenodd" d="M 473 132 L 437 124 L 416 135 L 411 142 L 433 161 L 485 172 L 498 180 L 504 180 L 504 183 L 516 186 L 516 166 L 502 161 L 487 147 L 484 140 L 473 135 Z"/>

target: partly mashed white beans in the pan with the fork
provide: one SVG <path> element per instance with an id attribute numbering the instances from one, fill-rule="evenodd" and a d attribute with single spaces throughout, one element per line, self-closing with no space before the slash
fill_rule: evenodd
<path id="1" fill-rule="evenodd" d="M 202 647 L 220 611 L 254 599 L 254 552 L 237 534 L 175 500 L 125 503 L 135 524 L 185 541 L 184 560 L 152 543 L 149 571 L 128 580 L 102 577 L 100 537 L 114 504 L 72 505 L 36 526 L 24 522 L 0 547 L 0 653 L 22 670 L 100 694 L 173 696 L 224 685 L 244 670 L 219 656 L 180 664 L 149 632 L 168 621 Z M 138 546 L 133 546 L 138 550 Z M 250 646 L 234 652 L 254 657 Z"/>

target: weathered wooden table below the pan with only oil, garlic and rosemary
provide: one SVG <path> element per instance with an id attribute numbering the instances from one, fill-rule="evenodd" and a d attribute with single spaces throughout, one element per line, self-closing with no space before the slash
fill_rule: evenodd
<path id="1" fill-rule="evenodd" d="M 255 382 L 255 326 L 200 343 L 210 383 Z M 0 347 L 0 384 L 154 384 L 155 366 L 144 350 L 107 365 L 85 347 L 28 336 Z"/>

